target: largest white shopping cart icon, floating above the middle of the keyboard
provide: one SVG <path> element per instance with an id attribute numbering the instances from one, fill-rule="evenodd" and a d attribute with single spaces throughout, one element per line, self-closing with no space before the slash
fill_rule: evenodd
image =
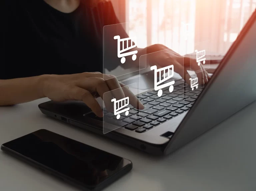
<path id="1" fill-rule="evenodd" d="M 172 92 L 173 91 L 173 84 L 175 83 L 175 81 L 171 81 L 171 82 L 168 82 L 168 83 L 165 83 L 165 84 L 162 84 L 162 85 L 159 85 L 161 83 L 163 83 L 164 81 L 170 79 L 173 77 L 173 69 L 174 69 L 174 66 L 173 65 L 170 65 L 170 66 L 166 66 L 164 68 L 160 68 L 160 69 L 157 69 L 157 66 L 151 66 L 150 67 L 151 70 L 154 70 L 154 86 L 155 86 L 155 91 L 158 90 L 157 92 L 157 95 L 158 97 L 161 97 L 161 95 L 163 94 L 163 91 L 162 91 L 162 88 L 165 88 L 165 87 L 169 87 L 169 91 Z M 167 72 L 166 72 L 167 70 Z M 162 73 L 161 73 L 162 72 Z M 171 72 L 171 74 L 170 74 Z M 168 74 L 167 77 L 165 77 L 165 73 Z M 161 79 L 161 76 L 162 74 L 164 74 L 163 76 L 163 79 Z M 157 77 L 159 76 L 159 81 L 157 81 Z"/>

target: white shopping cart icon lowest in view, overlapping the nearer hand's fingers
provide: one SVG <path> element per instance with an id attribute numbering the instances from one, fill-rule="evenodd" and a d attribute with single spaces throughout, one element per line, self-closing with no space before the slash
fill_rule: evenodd
<path id="1" fill-rule="evenodd" d="M 112 99 L 111 102 L 114 102 L 114 115 L 117 115 L 116 118 L 120 118 L 120 113 L 125 112 L 125 115 L 127 116 L 129 114 L 129 107 L 125 108 L 125 106 L 129 105 L 129 97 L 120 99 L 116 101 L 116 98 Z M 122 108 L 125 108 L 121 110 Z"/>

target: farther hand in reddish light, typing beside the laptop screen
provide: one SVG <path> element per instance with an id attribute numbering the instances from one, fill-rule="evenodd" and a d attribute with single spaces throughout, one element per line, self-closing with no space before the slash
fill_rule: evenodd
<path id="1" fill-rule="evenodd" d="M 180 74 L 187 84 L 190 84 L 189 78 L 191 78 L 187 72 L 188 68 L 196 72 L 199 84 L 204 85 L 210 79 L 207 71 L 201 64 L 198 66 L 195 59 L 183 57 L 162 44 L 147 47 L 147 60 L 150 65 L 156 65 L 158 69 L 173 65 L 174 71 Z"/>

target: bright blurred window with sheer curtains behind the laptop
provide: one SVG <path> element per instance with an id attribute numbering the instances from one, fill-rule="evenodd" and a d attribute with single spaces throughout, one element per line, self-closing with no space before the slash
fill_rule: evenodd
<path id="1" fill-rule="evenodd" d="M 256 0 L 111 1 L 138 47 L 161 43 L 181 55 L 202 41 L 210 42 L 208 53 L 224 55 L 256 8 Z"/>

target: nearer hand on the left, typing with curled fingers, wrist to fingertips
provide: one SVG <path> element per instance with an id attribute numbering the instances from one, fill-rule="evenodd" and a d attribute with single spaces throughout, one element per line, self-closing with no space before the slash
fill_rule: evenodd
<path id="1" fill-rule="evenodd" d="M 83 101 L 98 117 L 103 117 L 103 111 L 95 98 L 100 96 L 103 99 L 103 94 L 111 90 L 115 91 L 104 96 L 105 107 L 109 112 L 113 112 L 113 102 L 111 102 L 113 97 L 117 100 L 129 97 L 132 106 L 137 109 L 144 108 L 129 88 L 113 75 L 84 72 L 69 75 L 43 75 L 41 79 L 40 88 L 45 97 L 53 101 Z"/>

